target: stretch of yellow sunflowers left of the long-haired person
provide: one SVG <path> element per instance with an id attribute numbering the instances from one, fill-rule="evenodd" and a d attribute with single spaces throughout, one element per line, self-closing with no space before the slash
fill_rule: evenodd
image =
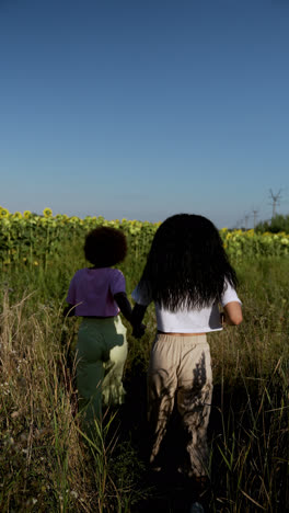
<path id="1" fill-rule="evenodd" d="M 77 242 L 83 246 L 88 231 L 97 226 L 124 230 L 130 251 L 139 259 L 147 254 L 159 225 L 127 219 L 106 220 L 102 216 L 86 216 L 84 219 L 65 214 L 54 216 L 50 208 L 45 208 L 42 215 L 30 210 L 10 214 L 0 206 L 0 262 L 4 266 L 15 263 L 46 267 L 62 255 L 63 248 Z"/>

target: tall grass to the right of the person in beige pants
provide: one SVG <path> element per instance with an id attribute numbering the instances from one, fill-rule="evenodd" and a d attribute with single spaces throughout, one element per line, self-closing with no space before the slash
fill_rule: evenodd
<path id="1" fill-rule="evenodd" d="M 286 260 L 243 263 L 244 322 L 210 337 L 217 511 L 277 512 L 289 505 L 288 267 Z"/>

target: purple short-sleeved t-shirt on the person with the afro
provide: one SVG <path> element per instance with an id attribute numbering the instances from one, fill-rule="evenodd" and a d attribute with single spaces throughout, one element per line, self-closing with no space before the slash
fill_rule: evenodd
<path id="1" fill-rule="evenodd" d="M 80 269 L 70 282 L 67 303 L 76 306 L 79 317 L 113 317 L 119 314 L 114 295 L 120 292 L 126 292 L 126 281 L 118 269 Z"/>

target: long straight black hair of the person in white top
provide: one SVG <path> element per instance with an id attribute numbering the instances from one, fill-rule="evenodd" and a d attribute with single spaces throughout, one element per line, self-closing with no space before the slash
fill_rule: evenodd
<path id="1" fill-rule="evenodd" d="M 209 219 L 176 214 L 162 223 L 139 283 L 152 300 L 172 311 L 200 309 L 220 300 L 226 282 L 235 287 L 236 275 Z"/>

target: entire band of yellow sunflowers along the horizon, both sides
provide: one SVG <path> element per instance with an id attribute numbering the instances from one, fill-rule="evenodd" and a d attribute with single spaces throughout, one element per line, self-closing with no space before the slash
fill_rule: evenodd
<path id="1" fill-rule="evenodd" d="M 30 266 L 46 266 L 57 256 L 61 258 L 63 248 L 80 241 L 88 231 L 96 226 L 120 228 L 128 237 L 129 250 L 137 260 L 146 258 L 153 235 L 160 223 L 115 219 L 86 216 L 84 219 L 65 214 L 53 215 L 45 208 L 42 215 L 25 210 L 11 214 L 0 206 L 0 262 L 2 266 L 13 263 Z M 233 260 L 258 256 L 284 256 L 289 254 L 289 235 L 256 233 L 247 231 L 220 230 L 226 251 Z"/>

